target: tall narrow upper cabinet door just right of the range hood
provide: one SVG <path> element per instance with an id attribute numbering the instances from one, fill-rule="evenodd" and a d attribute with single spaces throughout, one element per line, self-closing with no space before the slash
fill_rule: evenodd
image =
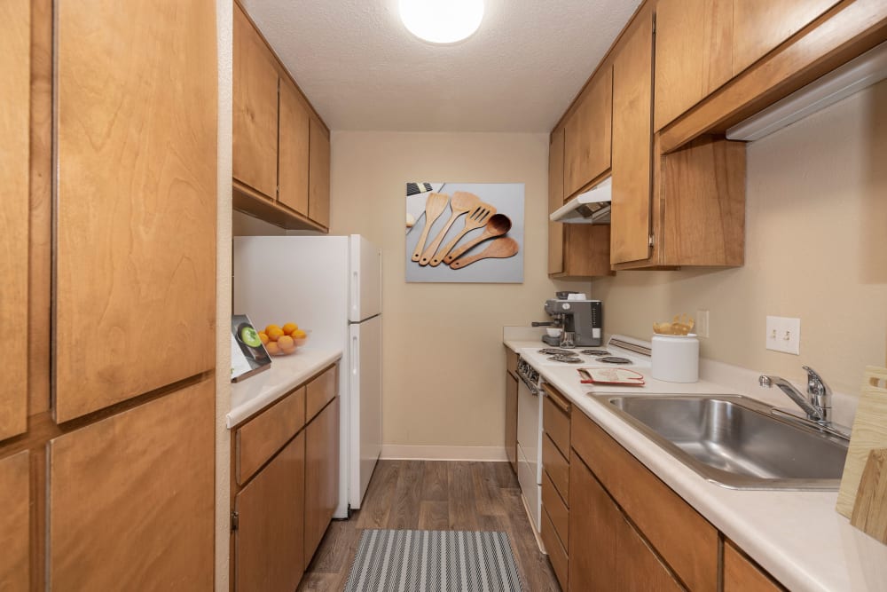
<path id="1" fill-rule="evenodd" d="M 653 20 L 643 12 L 624 34 L 613 64 L 613 211 L 610 262 L 650 256 Z"/>

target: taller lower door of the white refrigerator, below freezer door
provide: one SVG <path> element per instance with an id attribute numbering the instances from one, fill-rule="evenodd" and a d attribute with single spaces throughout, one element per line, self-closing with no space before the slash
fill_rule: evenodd
<path id="1" fill-rule="evenodd" d="M 382 320 L 349 325 L 349 503 L 360 508 L 382 450 Z"/>

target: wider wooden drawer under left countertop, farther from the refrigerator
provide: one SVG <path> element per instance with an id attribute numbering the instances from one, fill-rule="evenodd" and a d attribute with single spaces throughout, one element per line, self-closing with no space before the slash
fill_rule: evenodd
<path id="1" fill-rule="evenodd" d="M 305 425 L 305 388 L 280 399 L 237 430 L 237 483 L 243 485 Z"/>

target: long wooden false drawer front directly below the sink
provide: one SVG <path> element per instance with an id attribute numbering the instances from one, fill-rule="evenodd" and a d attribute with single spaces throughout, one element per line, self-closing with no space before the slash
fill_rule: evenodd
<path id="1" fill-rule="evenodd" d="M 716 589 L 715 527 L 585 414 L 572 416 L 570 438 L 574 451 L 687 588 Z"/>

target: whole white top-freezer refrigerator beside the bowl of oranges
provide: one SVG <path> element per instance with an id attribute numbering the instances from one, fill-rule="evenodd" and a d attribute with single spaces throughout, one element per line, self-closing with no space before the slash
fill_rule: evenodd
<path id="1" fill-rule="evenodd" d="M 297 323 L 310 331 L 303 347 L 342 351 L 334 517 L 348 517 L 381 454 L 381 251 L 357 234 L 243 236 L 234 238 L 233 258 L 235 314 L 256 327 Z"/>

